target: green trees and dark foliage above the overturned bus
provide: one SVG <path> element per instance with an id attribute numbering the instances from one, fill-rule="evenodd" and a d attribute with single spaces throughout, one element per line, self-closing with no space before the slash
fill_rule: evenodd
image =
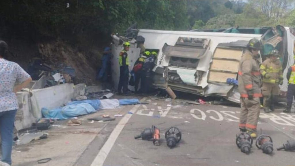
<path id="1" fill-rule="evenodd" d="M 67 3 L 69 7 L 67 7 Z M 140 29 L 295 26 L 294 1 L 0 1 L 0 37 L 102 41 Z"/>

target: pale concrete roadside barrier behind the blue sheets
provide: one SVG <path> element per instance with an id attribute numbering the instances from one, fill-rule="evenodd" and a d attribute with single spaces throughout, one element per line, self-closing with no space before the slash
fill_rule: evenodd
<path id="1" fill-rule="evenodd" d="M 19 110 L 15 119 L 17 130 L 28 128 L 42 118 L 41 109 L 64 106 L 71 99 L 85 94 L 85 84 L 61 84 L 44 89 L 33 89 L 33 96 L 28 92 L 17 92 Z"/>

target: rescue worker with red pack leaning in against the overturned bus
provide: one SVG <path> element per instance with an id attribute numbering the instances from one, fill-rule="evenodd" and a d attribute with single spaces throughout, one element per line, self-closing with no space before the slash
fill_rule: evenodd
<path id="1" fill-rule="evenodd" d="M 137 92 L 139 82 L 140 82 L 140 87 L 143 86 L 144 78 L 143 78 L 143 74 L 142 74 L 142 66 L 145 63 L 145 59 L 149 56 L 150 56 L 150 51 L 145 51 L 142 54 L 142 56 L 140 56 L 137 59 L 137 61 L 135 62 L 134 66 L 133 66 L 133 71 L 135 73 L 134 74 L 135 75 L 135 83 L 134 83 L 135 92 Z"/>

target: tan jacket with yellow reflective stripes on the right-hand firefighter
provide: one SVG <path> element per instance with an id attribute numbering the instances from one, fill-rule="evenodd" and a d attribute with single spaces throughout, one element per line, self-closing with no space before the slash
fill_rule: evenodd
<path id="1" fill-rule="evenodd" d="M 260 66 L 260 72 L 263 75 L 263 82 L 275 84 L 279 82 L 280 78 L 283 78 L 283 68 L 278 59 L 275 61 L 266 59 Z M 265 78 L 265 74 L 269 75 L 269 78 Z"/>

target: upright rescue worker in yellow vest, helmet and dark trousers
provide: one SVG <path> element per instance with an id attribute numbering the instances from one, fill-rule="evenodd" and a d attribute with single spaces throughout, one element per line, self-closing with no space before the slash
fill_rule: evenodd
<path id="1" fill-rule="evenodd" d="M 129 51 L 130 43 L 125 42 L 123 46 L 124 49 L 119 53 L 120 79 L 118 84 L 118 94 L 122 93 L 121 90 L 123 87 L 123 94 L 127 95 L 129 79 L 129 59 L 127 51 Z"/>

